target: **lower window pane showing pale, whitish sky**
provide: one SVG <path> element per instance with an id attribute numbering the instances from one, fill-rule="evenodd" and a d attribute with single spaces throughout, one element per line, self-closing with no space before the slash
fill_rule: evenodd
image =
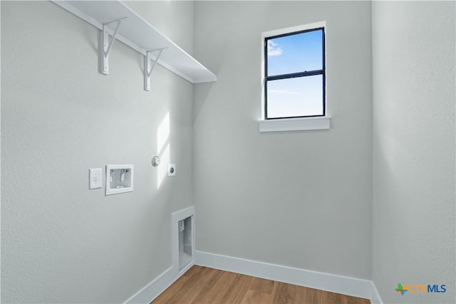
<path id="1" fill-rule="evenodd" d="M 267 117 L 323 115 L 323 75 L 267 82 Z"/>

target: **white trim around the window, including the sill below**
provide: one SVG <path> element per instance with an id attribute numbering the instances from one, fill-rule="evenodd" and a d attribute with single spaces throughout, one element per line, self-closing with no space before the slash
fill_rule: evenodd
<path id="1" fill-rule="evenodd" d="M 305 31 L 312 28 L 325 28 L 326 21 L 305 24 L 302 26 L 293 26 L 290 28 L 282 28 L 274 31 L 266 31 L 261 33 L 261 120 L 258 120 L 259 132 L 281 132 L 281 131 L 302 131 L 302 130 L 328 130 L 330 128 L 331 116 L 328 115 L 328 78 L 326 78 L 326 90 L 325 90 L 325 112 L 326 116 L 316 117 L 296 117 L 296 118 L 281 118 L 281 119 L 270 119 L 264 120 L 264 38 L 281 35 L 282 33 L 293 33 L 295 31 Z M 326 35 L 325 35 L 326 38 Z M 325 41 L 326 45 L 326 41 Z M 325 52 L 325 56 L 326 56 Z M 325 58 L 326 62 L 326 58 Z M 326 70 L 328 69 L 326 65 Z"/>

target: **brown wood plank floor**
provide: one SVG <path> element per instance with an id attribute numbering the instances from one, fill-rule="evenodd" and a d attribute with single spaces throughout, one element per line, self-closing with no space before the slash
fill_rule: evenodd
<path id="1" fill-rule="evenodd" d="M 371 300 L 193 266 L 152 303 L 371 304 Z"/>

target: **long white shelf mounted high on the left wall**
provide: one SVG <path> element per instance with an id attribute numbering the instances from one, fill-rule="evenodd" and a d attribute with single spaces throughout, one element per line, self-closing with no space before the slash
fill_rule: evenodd
<path id="1" fill-rule="evenodd" d="M 164 49 L 157 63 L 191 83 L 207 83 L 217 80 L 214 73 L 121 1 L 51 1 L 102 31 L 103 24 L 110 23 L 106 27 L 110 39 L 115 32 L 115 22 L 113 21 L 123 19 L 115 36 L 118 41 L 144 56 L 147 56 L 147 51 Z M 150 53 L 153 60 L 155 60 L 155 56 Z"/>

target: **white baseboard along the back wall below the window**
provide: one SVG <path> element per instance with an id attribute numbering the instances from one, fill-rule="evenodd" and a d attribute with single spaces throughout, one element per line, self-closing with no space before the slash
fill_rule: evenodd
<path id="1" fill-rule="evenodd" d="M 195 251 L 194 260 L 195 265 L 199 266 L 242 273 L 248 276 L 256 276 L 259 278 L 331 291 L 333 293 L 353 295 L 359 298 L 368 298 L 371 299 L 373 303 L 381 303 L 380 295 L 378 295 L 375 285 L 373 285 L 372 281 L 368 280 L 251 261 L 243 258 L 233 258 L 231 256 L 222 256 L 202 251 Z M 375 288 L 375 290 L 373 288 Z M 377 294 L 375 299 L 373 299 L 374 293 Z M 375 300 L 375 302 L 373 300 Z"/>

